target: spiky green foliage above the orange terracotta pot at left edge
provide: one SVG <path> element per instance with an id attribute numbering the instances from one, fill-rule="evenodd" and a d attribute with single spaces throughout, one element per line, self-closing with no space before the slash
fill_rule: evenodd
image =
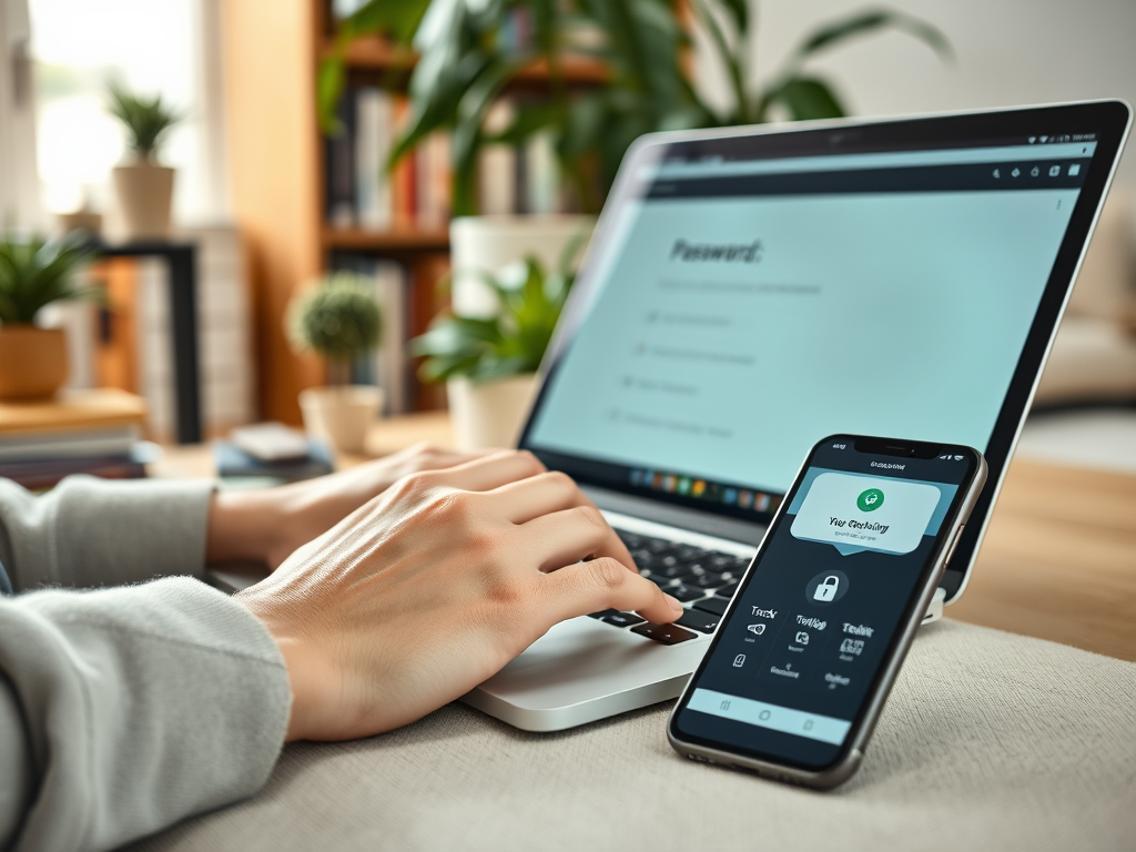
<path id="1" fill-rule="evenodd" d="M 99 287 L 76 284 L 90 249 L 81 235 L 0 240 L 0 323 L 34 323 L 52 302 L 100 299 Z"/>

